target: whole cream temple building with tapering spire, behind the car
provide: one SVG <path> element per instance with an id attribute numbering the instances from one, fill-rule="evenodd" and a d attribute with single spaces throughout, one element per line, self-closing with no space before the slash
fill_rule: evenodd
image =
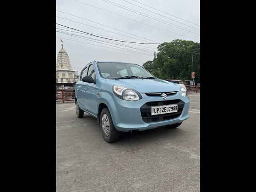
<path id="1" fill-rule="evenodd" d="M 72 69 L 68 53 L 63 44 L 58 52 L 56 62 L 56 89 L 74 89 L 77 81 L 76 71 Z"/>

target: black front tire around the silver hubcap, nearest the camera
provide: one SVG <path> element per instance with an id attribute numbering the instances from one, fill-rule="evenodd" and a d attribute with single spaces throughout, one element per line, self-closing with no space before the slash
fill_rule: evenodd
<path id="1" fill-rule="evenodd" d="M 102 119 L 103 116 L 105 118 L 104 120 Z M 108 108 L 104 108 L 100 114 L 100 128 L 102 129 L 102 136 L 106 142 L 111 143 L 118 140 L 120 132 L 114 127 Z"/>

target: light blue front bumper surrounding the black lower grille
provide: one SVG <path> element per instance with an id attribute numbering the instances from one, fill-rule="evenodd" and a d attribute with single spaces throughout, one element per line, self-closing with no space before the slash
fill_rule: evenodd
<path id="1" fill-rule="evenodd" d="M 162 99 L 161 96 L 148 96 L 146 94 L 141 95 L 142 99 L 135 102 L 122 100 L 117 97 L 111 100 L 111 116 L 113 124 L 117 130 L 128 132 L 130 130 L 152 129 L 158 126 L 180 123 L 189 117 L 189 97 L 181 96 L 180 91 L 174 95 L 167 96 L 166 100 Z M 169 120 L 162 120 L 157 122 L 144 122 L 140 110 L 144 104 L 148 102 L 162 102 L 168 100 L 181 100 L 182 102 L 184 102 L 184 106 L 180 116 Z"/>

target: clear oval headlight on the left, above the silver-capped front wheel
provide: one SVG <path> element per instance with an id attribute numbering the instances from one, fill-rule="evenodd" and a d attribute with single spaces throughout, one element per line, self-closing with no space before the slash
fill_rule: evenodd
<path id="1" fill-rule="evenodd" d="M 114 85 L 113 92 L 118 98 L 127 101 L 138 101 L 142 98 L 142 96 L 136 90 L 120 85 Z"/>

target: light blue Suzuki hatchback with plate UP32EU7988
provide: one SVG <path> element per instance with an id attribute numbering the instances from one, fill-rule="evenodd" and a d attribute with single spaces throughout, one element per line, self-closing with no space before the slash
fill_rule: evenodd
<path id="1" fill-rule="evenodd" d="M 118 140 L 120 131 L 176 128 L 189 117 L 189 102 L 183 84 L 159 79 L 137 64 L 93 61 L 76 82 L 76 115 L 97 118 L 106 142 Z"/>

